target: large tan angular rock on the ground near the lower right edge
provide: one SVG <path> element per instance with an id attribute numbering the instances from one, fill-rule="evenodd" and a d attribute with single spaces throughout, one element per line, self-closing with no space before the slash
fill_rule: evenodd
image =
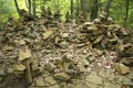
<path id="1" fill-rule="evenodd" d="M 115 69 L 122 75 L 130 73 L 130 68 L 127 66 L 119 63 L 115 64 Z"/>

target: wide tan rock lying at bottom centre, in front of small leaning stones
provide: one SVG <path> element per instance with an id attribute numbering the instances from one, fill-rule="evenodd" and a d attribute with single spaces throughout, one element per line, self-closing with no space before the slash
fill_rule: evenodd
<path id="1" fill-rule="evenodd" d="M 71 78 L 71 76 L 68 75 L 66 73 L 58 73 L 58 74 L 54 74 L 53 77 L 55 79 L 64 80 L 64 81 L 66 81 L 66 80 L 69 80 Z"/>

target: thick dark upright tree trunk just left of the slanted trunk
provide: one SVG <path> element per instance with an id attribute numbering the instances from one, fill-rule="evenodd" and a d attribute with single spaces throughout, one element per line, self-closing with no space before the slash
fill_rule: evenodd
<path id="1" fill-rule="evenodd" d="M 98 8 L 99 8 L 98 4 L 99 4 L 98 0 L 94 0 L 92 10 L 91 10 L 91 21 L 98 18 Z"/>

